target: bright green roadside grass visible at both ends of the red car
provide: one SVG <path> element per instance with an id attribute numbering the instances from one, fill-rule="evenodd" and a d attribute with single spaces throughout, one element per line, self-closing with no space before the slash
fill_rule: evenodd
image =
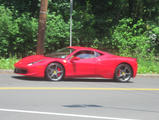
<path id="1" fill-rule="evenodd" d="M 0 69 L 14 69 L 14 63 L 17 61 L 18 59 L 16 57 L 0 58 Z M 159 60 L 146 61 L 144 59 L 138 59 L 138 73 L 159 74 Z"/>

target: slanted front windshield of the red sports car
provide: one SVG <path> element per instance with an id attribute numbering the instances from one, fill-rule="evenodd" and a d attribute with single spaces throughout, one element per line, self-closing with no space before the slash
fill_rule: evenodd
<path id="1" fill-rule="evenodd" d="M 47 57 L 53 57 L 53 58 L 66 58 L 69 54 L 71 54 L 75 49 L 72 48 L 62 48 L 55 52 L 46 54 Z"/>

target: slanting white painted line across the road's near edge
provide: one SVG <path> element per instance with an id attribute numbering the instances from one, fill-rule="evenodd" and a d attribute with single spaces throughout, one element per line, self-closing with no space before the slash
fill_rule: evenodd
<path id="1" fill-rule="evenodd" d="M 0 111 L 17 112 L 17 113 L 30 113 L 30 114 L 41 114 L 41 115 L 56 115 L 56 116 L 66 116 L 66 117 L 94 118 L 94 119 L 104 119 L 104 120 L 137 120 L 137 119 L 127 119 L 127 118 L 115 118 L 115 117 L 91 116 L 91 115 L 78 115 L 78 114 L 54 113 L 54 112 L 40 112 L 40 111 L 17 110 L 17 109 L 1 109 L 0 108 Z"/>

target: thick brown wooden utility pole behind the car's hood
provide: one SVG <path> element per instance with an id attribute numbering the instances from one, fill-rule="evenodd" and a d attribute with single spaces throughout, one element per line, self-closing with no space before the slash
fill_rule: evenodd
<path id="1" fill-rule="evenodd" d="M 47 7 L 48 7 L 48 0 L 41 0 L 38 36 L 37 36 L 37 49 L 36 49 L 37 55 L 44 54 L 44 40 L 45 40 Z"/>

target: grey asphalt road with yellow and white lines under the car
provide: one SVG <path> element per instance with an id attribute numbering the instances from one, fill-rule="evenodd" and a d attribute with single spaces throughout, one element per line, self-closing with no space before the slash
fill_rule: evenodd
<path id="1" fill-rule="evenodd" d="M 159 120 L 159 77 L 51 82 L 0 73 L 0 120 Z"/>

